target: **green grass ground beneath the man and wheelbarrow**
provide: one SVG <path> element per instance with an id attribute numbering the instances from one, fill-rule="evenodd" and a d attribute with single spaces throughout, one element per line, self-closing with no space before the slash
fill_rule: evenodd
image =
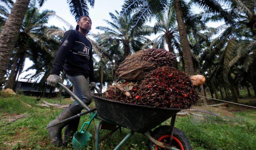
<path id="1" fill-rule="evenodd" d="M 0 149 L 63 149 L 50 144 L 48 132 L 44 128 L 54 119 L 62 109 L 40 107 L 36 104 L 43 100 L 49 103 L 70 104 L 68 100 L 41 99 L 35 102 L 36 97 L 29 96 L 0 96 Z M 253 101 L 256 101 L 255 98 Z M 93 106 L 94 103 L 90 105 Z M 31 106 L 31 107 L 29 107 Z M 17 114 L 29 114 L 28 117 L 8 123 L 8 117 Z M 255 149 L 256 147 L 256 109 L 243 109 L 234 112 L 236 117 L 208 118 L 207 122 L 198 122 L 197 118 L 178 116 L 175 127 L 182 130 L 191 142 L 193 149 Z M 81 117 L 82 123 L 88 121 L 88 115 Z M 97 122 L 96 122 L 97 123 Z M 170 124 L 170 119 L 162 124 Z M 89 132 L 94 136 L 91 125 Z M 123 137 L 129 130 L 123 130 Z M 107 133 L 102 130 L 101 136 Z M 113 149 L 121 140 L 118 132 L 103 141 L 101 149 Z M 135 133 L 122 149 L 142 150 L 147 148 L 147 138 Z M 69 145 L 66 149 L 72 149 Z M 91 138 L 86 149 L 94 149 L 94 140 Z"/>

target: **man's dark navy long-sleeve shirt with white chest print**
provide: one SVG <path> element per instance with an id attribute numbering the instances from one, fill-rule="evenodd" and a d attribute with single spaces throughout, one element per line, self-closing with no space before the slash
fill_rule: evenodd
<path id="1" fill-rule="evenodd" d="M 92 44 L 77 30 L 68 30 L 63 36 L 53 62 L 51 74 L 60 75 L 63 69 L 70 76 L 84 75 L 95 82 L 93 75 Z"/>

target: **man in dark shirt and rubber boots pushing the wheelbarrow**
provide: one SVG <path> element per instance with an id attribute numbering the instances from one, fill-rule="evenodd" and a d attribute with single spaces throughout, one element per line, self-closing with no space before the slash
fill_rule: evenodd
<path id="1" fill-rule="evenodd" d="M 68 30 L 63 36 L 62 43 L 59 47 L 57 55 L 53 62 L 51 75 L 47 78 L 47 82 L 56 87 L 58 82 L 61 82 L 60 71 L 63 69 L 66 72 L 68 80 L 74 86 L 74 93 L 86 105 L 92 101 L 91 92 L 89 89 L 89 80 L 91 89 L 95 87 L 93 77 L 93 62 L 92 62 L 92 44 L 86 38 L 86 34 L 91 30 L 92 21 L 89 16 L 81 16 L 77 21 L 76 30 Z M 64 109 L 55 120 L 48 123 L 50 126 L 60 122 L 66 118 L 81 113 L 83 107 L 76 101 Z M 48 128 L 51 142 L 55 146 L 67 145 L 68 139 L 72 138 L 77 131 L 79 118 L 68 123 L 61 123 L 52 128 Z M 65 127 L 66 126 L 66 127 Z M 62 142 L 61 130 L 65 127 L 65 135 Z"/>

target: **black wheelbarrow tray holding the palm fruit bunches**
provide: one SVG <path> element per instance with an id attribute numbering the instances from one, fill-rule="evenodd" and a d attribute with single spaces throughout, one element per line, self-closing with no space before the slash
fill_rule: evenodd
<path id="1" fill-rule="evenodd" d="M 96 95 L 96 94 L 95 94 Z M 93 95 L 97 113 L 104 119 L 138 133 L 145 133 L 182 109 L 128 104 Z"/>

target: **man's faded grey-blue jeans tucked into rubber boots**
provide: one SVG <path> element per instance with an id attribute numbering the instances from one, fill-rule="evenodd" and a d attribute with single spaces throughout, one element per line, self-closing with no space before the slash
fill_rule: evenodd
<path id="1" fill-rule="evenodd" d="M 89 77 L 85 78 L 84 75 L 78 76 L 69 76 L 66 74 L 68 80 L 73 84 L 74 94 L 81 99 L 86 105 L 91 104 L 92 95 L 89 89 Z M 76 101 L 69 106 L 70 111 L 74 114 L 78 114 L 84 109 L 79 103 Z"/>

